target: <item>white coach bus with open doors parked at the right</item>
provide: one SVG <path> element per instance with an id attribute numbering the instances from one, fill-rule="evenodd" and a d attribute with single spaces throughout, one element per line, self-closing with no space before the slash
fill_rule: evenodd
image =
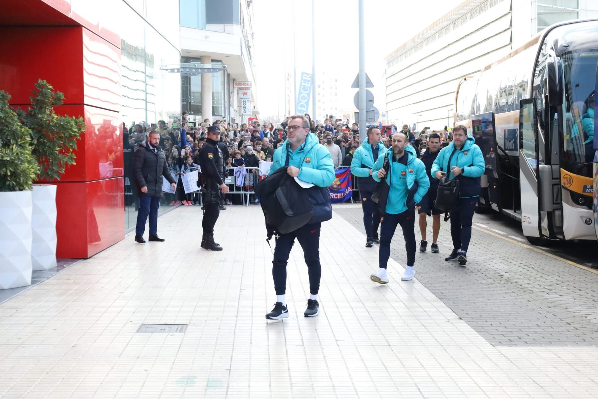
<path id="1" fill-rule="evenodd" d="M 454 122 L 486 159 L 478 211 L 520 220 L 531 243 L 597 240 L 593 138 L 598 19 L 550 26 L 463 78 Z"/>

